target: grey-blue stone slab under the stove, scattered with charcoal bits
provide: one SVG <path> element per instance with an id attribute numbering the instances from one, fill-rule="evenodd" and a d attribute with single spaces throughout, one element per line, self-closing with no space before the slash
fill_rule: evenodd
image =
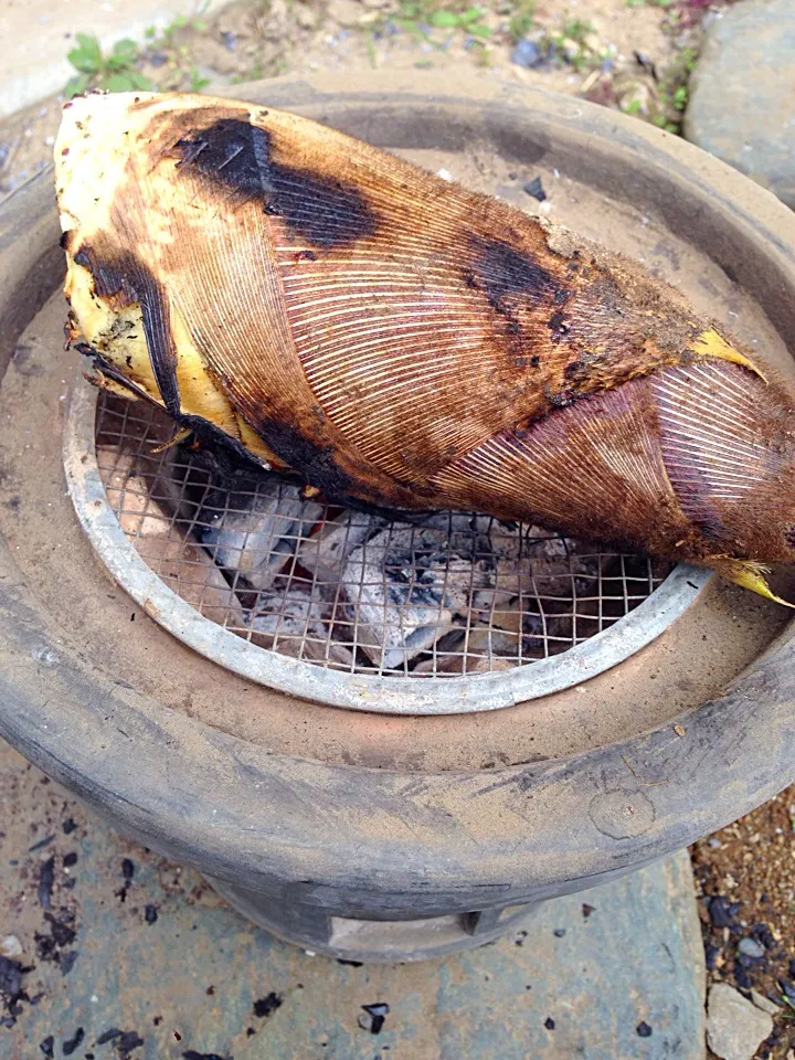
<path id="1" fill-rule="evenodd" d="M 484 948 L 356 967 L 271 939 L 7 744 L 0 799 L 2 1060 L 704 1056 L 685 854 L 551 901 Z M 375 1035 L 363 1006 L 381 1003 Z"/>

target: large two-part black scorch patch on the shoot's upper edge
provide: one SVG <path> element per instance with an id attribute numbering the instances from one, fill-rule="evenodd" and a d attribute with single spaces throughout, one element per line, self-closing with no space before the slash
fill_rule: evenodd
<path id="1" fill-rule="evenodd" d="M 258 201 L 295 235 L 321 250 L 372 235 L 377 220 L 358 188 L 273 158 L 271 134 L 240 118 L 221 118 L 190 132 L 171 153 L 242 202 Z"/>

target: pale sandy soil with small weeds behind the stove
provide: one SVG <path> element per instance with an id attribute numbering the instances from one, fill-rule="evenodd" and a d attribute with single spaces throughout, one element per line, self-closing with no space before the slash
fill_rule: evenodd
<path id="1" fill-rule="evenodd" d="M 430 24 L 442 10 L 467 7 L 465 0 L 236 0 L 141 45 L 137 70 L 163 89 L 201 84 L 204 92 L 300 70 L 449 70 L 453 87 L 480 77 L 532 83 L 680 128 L 704 0 L 498 0 L 481 7 L 478 24 L 488 36 Z M 67 29 L 64 52 L 75 32 L 92 31 L 80 23 Z M 533 68 L 512 61 L 521 33 L 541 53 Z M 0 195 L 50 161 L 63 99 L 51 96 L 0 121 Z"/>

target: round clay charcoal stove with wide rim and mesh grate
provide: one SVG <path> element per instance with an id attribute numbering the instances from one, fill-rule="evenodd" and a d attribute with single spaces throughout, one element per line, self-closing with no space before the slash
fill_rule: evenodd
<path id="1" fill-rule="evenodd" d="M 772 197 L 581 100 L 411 82 L 235 94 L 644 258 L 793 372 Z M 489 941 L 795 778 L 784 608 L 477 512 L 221 480 L 97 394 L 62 350 L 51 180 L 0 206 L 0 732 L 32 761 L 267 930 L 365 961 Z"/>

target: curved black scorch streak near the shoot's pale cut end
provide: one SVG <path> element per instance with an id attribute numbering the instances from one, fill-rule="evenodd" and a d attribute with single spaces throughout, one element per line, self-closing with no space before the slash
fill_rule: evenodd
<path id="1" fill-rule="evenodd" d="M 177 351 L 171 337 L 169 307 L 151 271 L 135 254 L 127 251 L 103 254 L 84 245 L 74 259 L 92 274 L 94 290 L 100 298 L 113 298 L 117 306 L 140 305 L 144 335 L 155 379 L 169 413 L 178 416 L 180 395 L 177 385 Z M 125 380 L 120 381 L 126 383 Z"/>

